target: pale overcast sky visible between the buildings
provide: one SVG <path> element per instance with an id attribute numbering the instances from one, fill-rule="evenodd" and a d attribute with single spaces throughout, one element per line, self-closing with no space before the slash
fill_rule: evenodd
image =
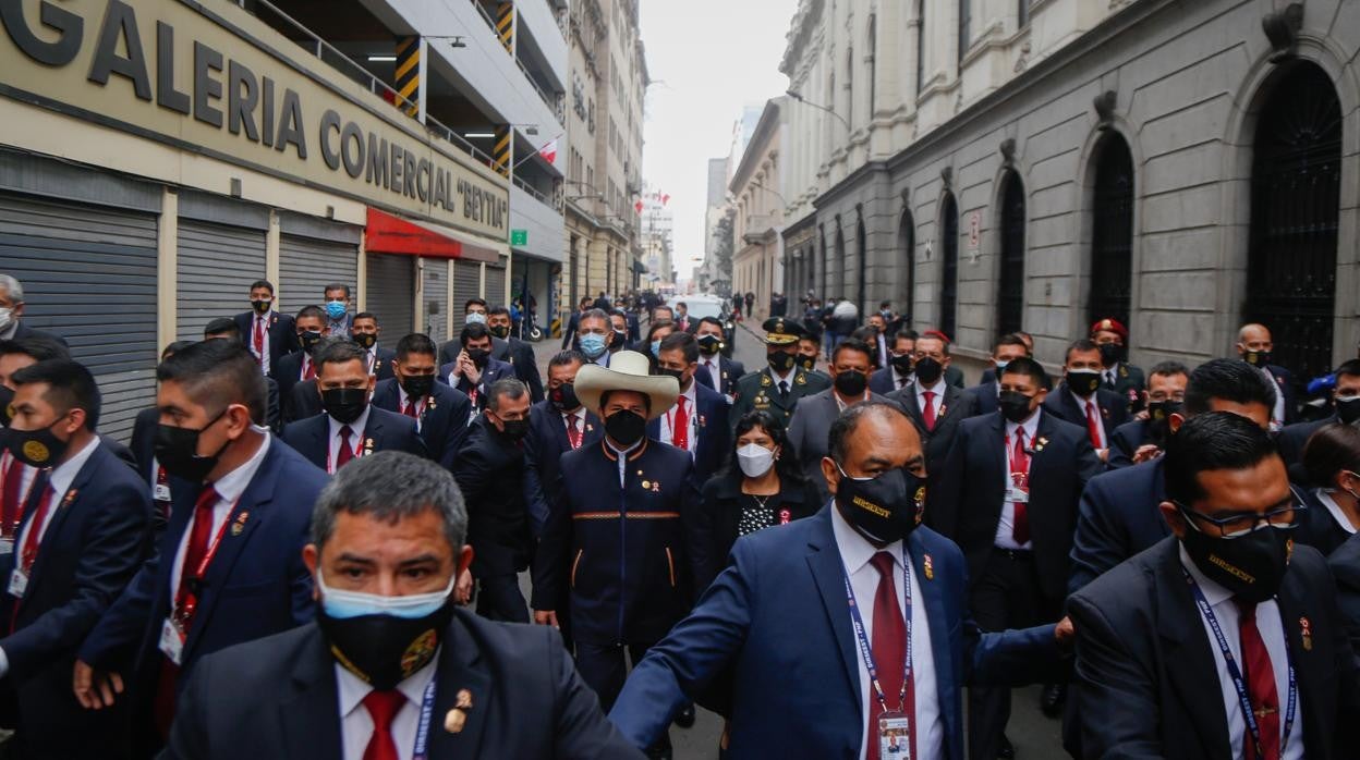
<path id="1" fill-rule="evenodd" d="M 675 266 L 703 256 L 709 159 L 726 155 L 747 105 L 782 95 L 785 35 L 797 0 L 642 0 L 647 114 L 642 177 L 670 194 Z"/>

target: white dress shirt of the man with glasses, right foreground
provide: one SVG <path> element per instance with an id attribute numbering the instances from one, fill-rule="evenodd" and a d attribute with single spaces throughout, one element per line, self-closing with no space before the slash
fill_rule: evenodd
<path id="1" fill-rule="evenodd" d="M 1224 589 L 1214 581 L 1206 578 L 1194 560 L 1186 553 L 1185 547 L 1179 547 L 1180 564 L 1190 571 L 1190 576 L 1200 585 L 1204 601 L 1209 602 L 1213 616 L 1219 619 L 1219 629 L 1228 640 L 1228 650 L 1232 659 L 1242 662 L 1242 635 L 1238 632 L 1242 617 L 1238 615 L 1238 605 L 1232 602 L 1232 591 Z M 1195 608 L 1198 610 L 1198 606 Z M 1213 653 L 1213 666 L 1219 673 L 1219 691 L 1223 692 L 1223 710 L 1228 715 L 1228 744 L 1232 746 L 1229 757 L 1244 757 L 1243 742 L 1247 738 L 1247 719 L 1242 716 L 1242 700 L 1238 699 L 1238 688 L 1228 674 L 1227 661 L 1223 659 L 1223 650 L 1213 635 L 1209 619 L 1202 613 L 1200 623 L 1204 624 L 1204 635 Z M 1276 676 L 1276 695 L 1280 697 L 1280 734 L 1284 736 L 1284 716 L 1289 700 L 1289 659 L 1288 643 L 1284 639 L 1284 623 L 1280 619 L 1280 605 L 1274 600 L 1257 605 L 1257 631 L 1261 631 L 1261 640 L 1266 644 L 1266 654 L 1270 655 L 1270 666 Z M 1282 760 L 1300 760 L 1303 753 L 1303 711 L 1308 706 L 1303 703 L 1303 695 L 1295 706 L 1293 731 L 1289 734 L 1289 745 L 1284 749 Z"/>

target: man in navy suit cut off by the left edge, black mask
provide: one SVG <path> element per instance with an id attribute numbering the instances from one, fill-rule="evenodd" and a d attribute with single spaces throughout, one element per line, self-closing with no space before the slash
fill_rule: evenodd
<path id="1" fill-rule="evenodd" d="M 91 712 L 71 693 L 76 649 L 137 572 L 151 500 L 90 421 L 99 389 L 86 367 L 38 362 L 15 373 L 10 455 L 42 468 L 0 537 L 0 719 L 19 757 L 122 757 L 126 711 Z"/>

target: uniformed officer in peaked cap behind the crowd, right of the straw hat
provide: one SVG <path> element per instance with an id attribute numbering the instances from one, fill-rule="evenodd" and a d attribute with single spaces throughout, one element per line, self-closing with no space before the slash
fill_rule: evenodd
<path id="1" fill-rule="evenodd" d="M 808 334 L 800 322 L 771 317 L 762 326 L 766 330 L 768 366 L 737 381 L 736 400 L 732 402 L 729 419 L 736 426 L 736 420 L 747 412 L 770 412 L 789 427 L 789 419 L 798 400 L 831 387 L 831 378 L 798 366 L 798 339 Z"/>

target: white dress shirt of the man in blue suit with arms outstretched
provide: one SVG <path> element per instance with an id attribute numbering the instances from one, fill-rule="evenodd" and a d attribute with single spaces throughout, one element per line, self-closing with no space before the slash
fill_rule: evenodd
<path id="1" fill-rule="evenodd" d="M 840 517 L 840 511 L 831 504 L 831 532 L 836 538 L 836 549 L 840 552 L 840 562 L 845 563 L 846 574 L 850 575 L 850 587 L 854 590 L 855 602 L 860 606 L 860 619 L 864 621 L 864 635 L 873 643 L 873 597 L 879 593 L 879 571 L 869 564 L 877 552 L 892 555 L 895 576 L 892 586 L 898 591 L 898 608 L 904 606 L 902 589 L 902 541 L 894 541 L 883 549 L 874 548 Z M 911 555 L 907 555 L 910 557 Z M 846 602 L 846 623 L 850 621 L 850 605 Z M 873 687 L 869 683 L 869 668 L 864 663 L 864 657 L 855 646 L 855 662 L 860 663 L 860 715 L 861 721 L 860 753 L 864 757 L 869 746 L 869 719 L 866 718 L 870 706 L 877 704 L 879 697 L 872 696 Z M 881 668 L 881 666 L 880 666 Z M 921 595 L 921 582 L 915 568 L 911 572 L 911 677 L 915 681 L 917 714 L 913 715 L 911 725 L 917 731 L 917 756 L 940 757 L 944 752 L 944 722 L 940 718 L 940 695 L 936 688 L 934 650 L 930 647 L 930 621 L 926 619 L 925 598 Z M 898 695 L 884 695 L 888 710 L 898 708 Z"/>

